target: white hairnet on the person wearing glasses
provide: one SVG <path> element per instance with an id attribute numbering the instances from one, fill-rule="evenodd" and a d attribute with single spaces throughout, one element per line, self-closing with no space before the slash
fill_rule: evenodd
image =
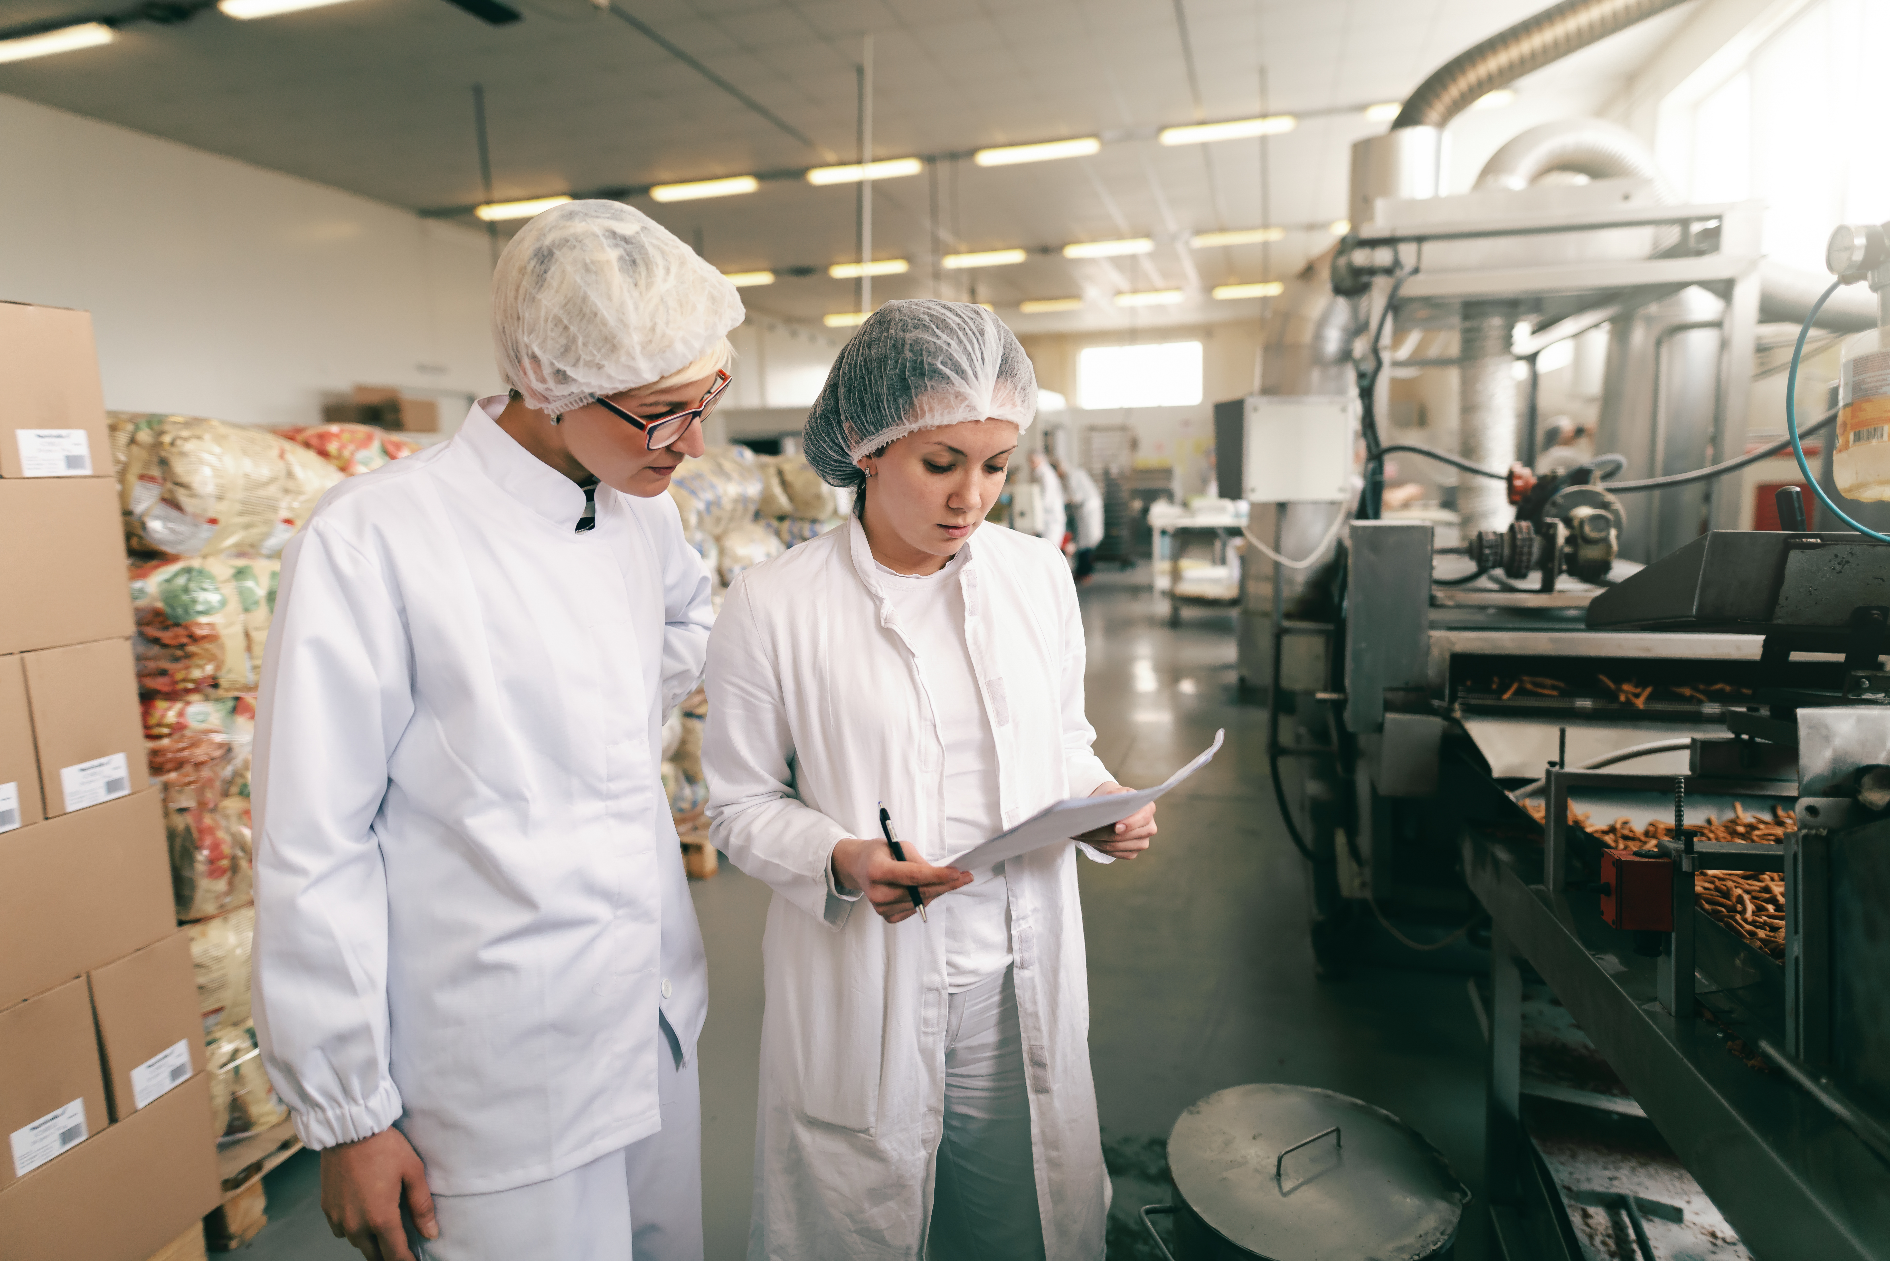
<path id="1" fill-rule="evenodd" d="M 491 278 L 499 372 L 541 412 L 662 380 L 741 320 L 722 272 L 622 202 L 552 206 L 520 229 Z"/>

